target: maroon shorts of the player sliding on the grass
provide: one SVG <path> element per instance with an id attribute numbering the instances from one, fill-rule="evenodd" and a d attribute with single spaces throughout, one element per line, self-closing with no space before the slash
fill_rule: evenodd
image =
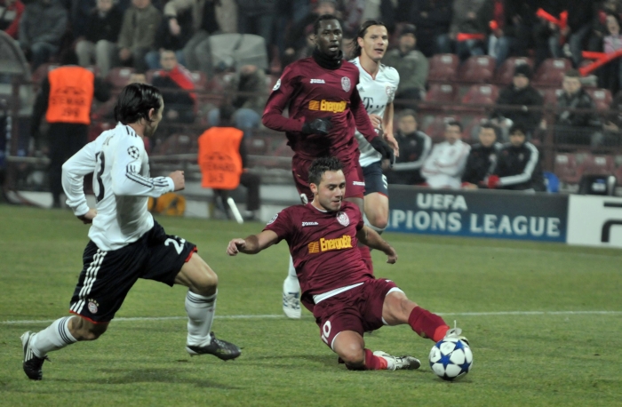
<path id="1" fill-rule="evenodd" d="M 384 326 L 382 307 L 393 288 L 397 285 L 391 280 L 370 278 L 358 287 L 315 304 L 313 315 L 320 327 L 320 338 L 332 349 L 332 341 L 341 331 L 355 331 L 363 336 L 364 332 Z"/>

